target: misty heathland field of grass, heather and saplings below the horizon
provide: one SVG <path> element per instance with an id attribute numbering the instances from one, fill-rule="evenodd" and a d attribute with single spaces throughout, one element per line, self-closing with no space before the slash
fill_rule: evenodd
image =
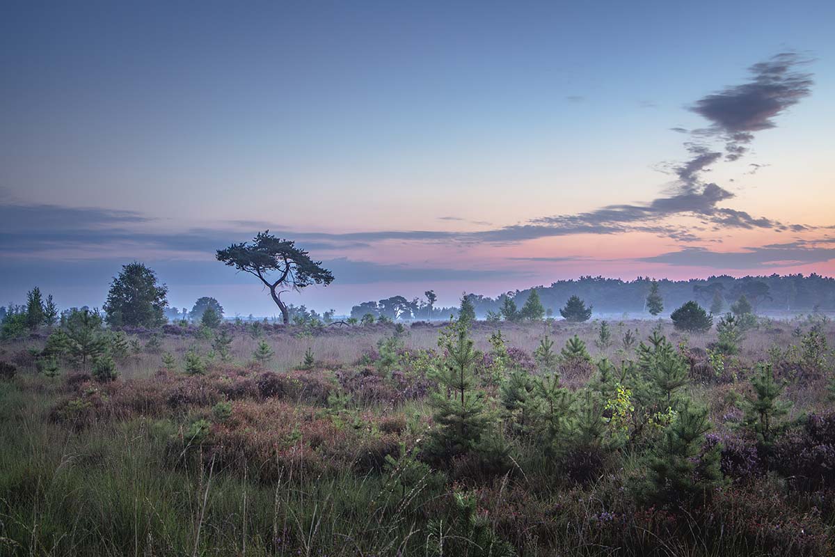
<path id="1" fill-rule="evenodd" d="M 44 367 L 49 330 L 4 342 L 0 554 L 832 554 L 832 322 L 760 319 L 724 354 L 715 329 L 608 325 L 473 323 L 467 442 L 438 419 L 444 323 L 96 330 L 112 380 Z M 622 365 L 654 332 L 686 370 L 669 404 L 661 360 Z M 785 384 L 765 429 L 760 362 Z"/>

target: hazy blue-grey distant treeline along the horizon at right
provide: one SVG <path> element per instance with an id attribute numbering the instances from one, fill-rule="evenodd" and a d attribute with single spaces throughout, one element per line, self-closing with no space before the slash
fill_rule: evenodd
<path id="1" fill-rule="evenodd" d="M 579 296 L 586 306 L 592 306 L 595 314 L 640 313 L 646 311 L 646 296 L 652 279 L 639 276 L 634 281 L 622 281 L 603 276 L 581 276 L 579 279 L 557 281 L 550 286 L 534 286 L 526 290 L 510 291 L 494 298 L 480 294 L 467 294 L 473 302 L 478 318 L 488 312 L 498 313 L 505 297 L 512 298 L 521 307 L 530 292 L 536 290 L 549 315 L 559 317 L 559 308 L 570 296 Z M 812 273 L 809 276 L 710 276 L 688 281 L 658 281 L 660 296 L 664 300 L 664 313 L 681 306 L 686 301 L 697 301 L 702 306 L 716 305 L 716 299 L 725 309 L 745 295 L 758 313 L 802 312 L 835 310 L 835 279 Z M 392 320 L 448 319 L 457 315 L 458 307 L 430 306 L 426 299 L 392 296 L 380 301 L 366 301 L 353 306 L 351 316 L 357 319 L 366 314 L 387 316 Z"/>

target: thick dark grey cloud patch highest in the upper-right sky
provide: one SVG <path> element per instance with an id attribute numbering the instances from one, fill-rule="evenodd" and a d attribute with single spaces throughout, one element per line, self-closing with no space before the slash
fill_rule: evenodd
<path id="1" fill-rule="evenodd" d="M 738 160 L 753 132 L 776 127 L 778 114 L 811 93 L 812 75 L 797 71 L 805 63 L 796 53 L 777 54 L 751 66 L 748 83 L 709 94 L 691 107 L 711 122 L 709 133 L 725 139 L 726 160 Z"/>

